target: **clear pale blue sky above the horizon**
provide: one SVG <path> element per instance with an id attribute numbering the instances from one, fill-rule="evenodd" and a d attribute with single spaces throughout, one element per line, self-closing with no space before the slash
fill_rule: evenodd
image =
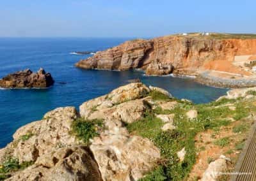
<path id="1" fill-rule="evenodd" d="M 0 37 L 256 33 L 255 0 L 1 0 Z"/>

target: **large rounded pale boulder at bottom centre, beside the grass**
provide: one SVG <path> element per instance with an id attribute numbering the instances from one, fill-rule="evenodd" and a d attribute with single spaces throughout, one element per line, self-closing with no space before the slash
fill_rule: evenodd
<path id="1" fill-rule="evenodd" d="M 100 134 L 90 149 L 103 180 L 138 180 L 160 159 L 159 149 L 147 138 L 131 136 L 125 128 Z"/>

